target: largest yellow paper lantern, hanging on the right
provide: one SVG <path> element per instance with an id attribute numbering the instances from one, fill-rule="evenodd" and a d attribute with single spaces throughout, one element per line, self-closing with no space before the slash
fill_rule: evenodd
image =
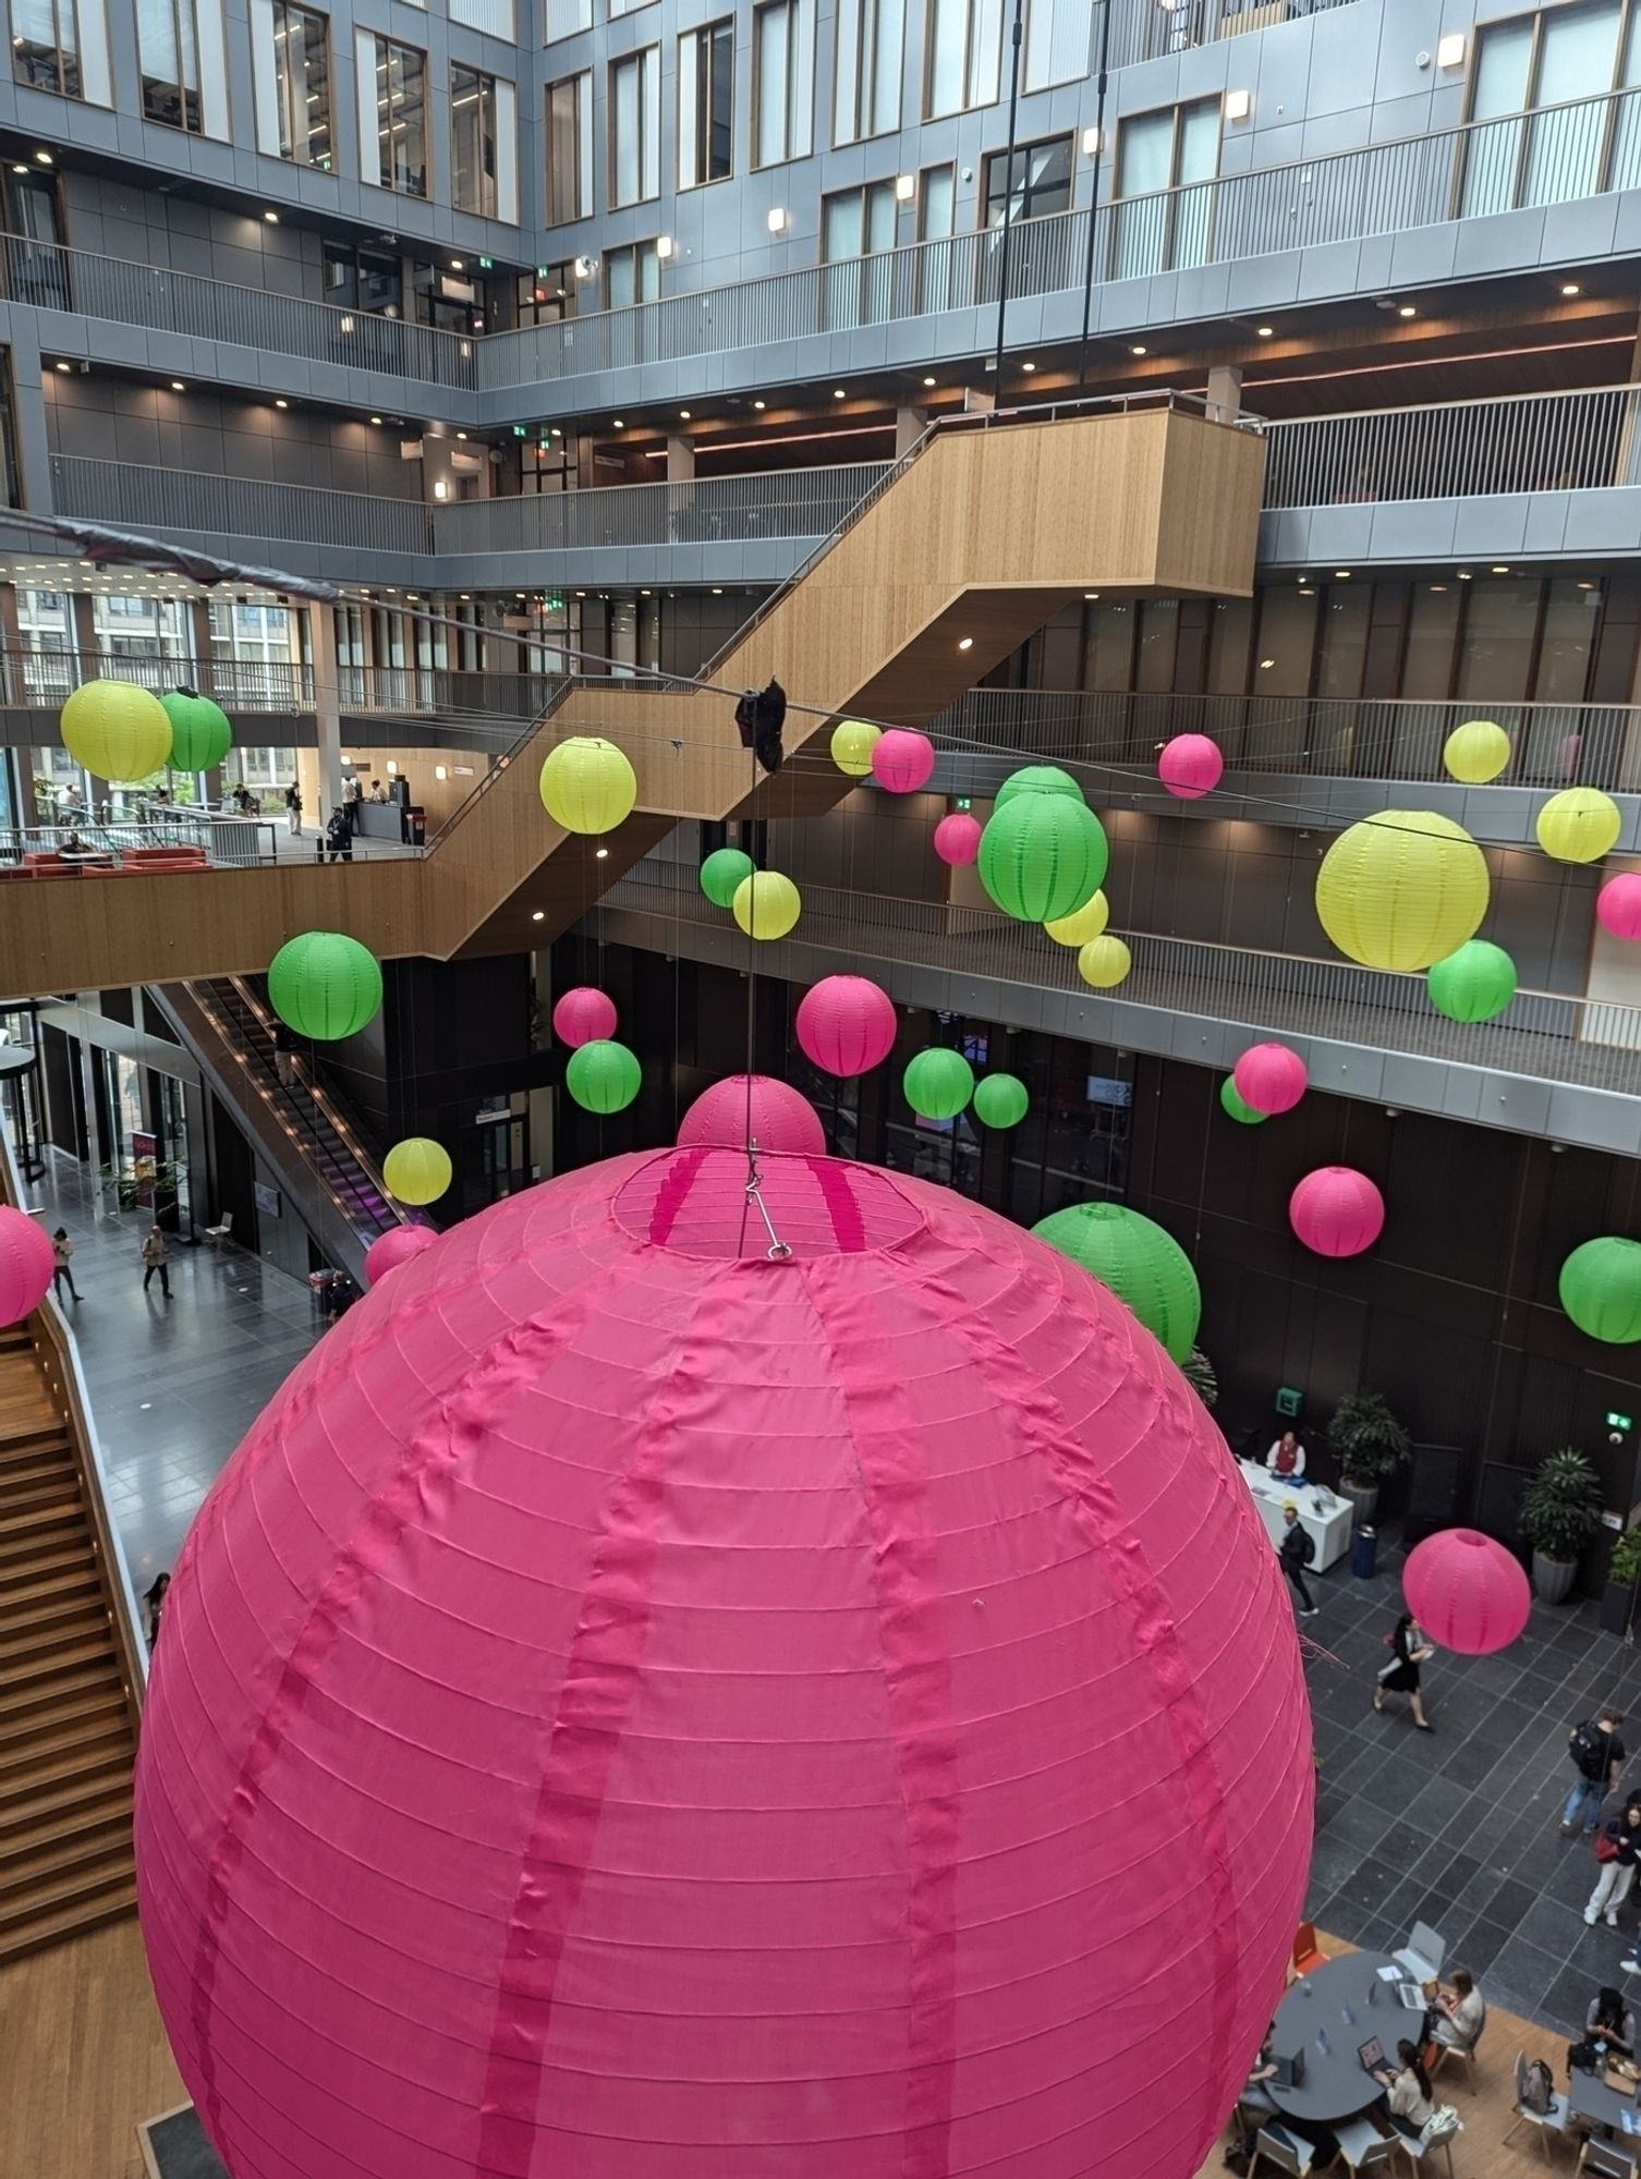
<path id="1" fill-rule="evenodd" d="M 1430 967 L 1486 915 L 1486 856 L 1434 811 L 1377 811 L 1334 841 L 1316 872 L 1316 915 L 1351 961 Z"/>

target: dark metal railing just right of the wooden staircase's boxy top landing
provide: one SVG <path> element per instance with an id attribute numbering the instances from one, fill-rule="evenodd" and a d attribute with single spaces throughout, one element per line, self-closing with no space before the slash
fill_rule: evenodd
<path id="1" fill-rule="evenodd" d="M 1641 388 L 1305 416 L 1266 431 L 1266 508 L 1641 484 Z"/>

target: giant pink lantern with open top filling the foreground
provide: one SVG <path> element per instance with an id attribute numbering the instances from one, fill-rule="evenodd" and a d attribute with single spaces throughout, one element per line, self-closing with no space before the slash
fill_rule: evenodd
<path id="1" fill-rule="evenodd" d="M 789 1255 L 739 1151 L 493 1205 L 211 1490 L 137 1885 L 229 2170 L 1207 2157 L 1312 1833 L 1253 1501 L 1020 1227 L 832 1159 L 765 1157 L 761 1205 Z"/>

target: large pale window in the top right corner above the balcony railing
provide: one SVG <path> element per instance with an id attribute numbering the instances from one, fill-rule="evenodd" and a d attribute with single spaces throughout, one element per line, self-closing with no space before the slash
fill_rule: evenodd
<path id="1" fill-rule="evenodd" d="M 1641 11 L 1619 39 L 1621 0 L 1517 15 L 1475 33 L 1471 120 L 1460 214 L 1560 205 L 1641 176 L 1641 129 L 1624 100 L 1613 115 L 1597 94 L 1641 83 Z M 1560 111 L 1534 113 L 1534 107 Z M 1602 166 L 1608 174 L 1602 174 Z"/>

